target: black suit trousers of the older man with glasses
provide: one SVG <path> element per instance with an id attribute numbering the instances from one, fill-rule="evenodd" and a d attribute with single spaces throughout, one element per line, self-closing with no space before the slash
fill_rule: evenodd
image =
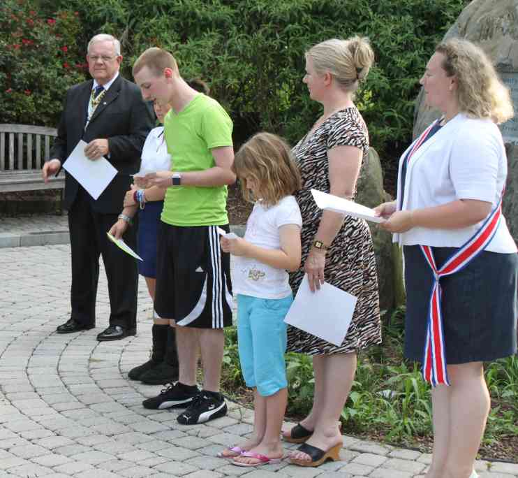
<path id="1" fill-rule="evenodd" d="M 96 212 L 91 203 L 89 194 L 80 187 L 68 211 L 72 249 L 71 317 L 80 324 L 95 325 L 99 256 L 102 255 L 110 296 L 110 325 L 134 328 L 137 326 L 137 262 L 106 237 L 118 215 Z M 133 250 L 137 247 L 136 229 L 137 224 L 128 227 L 124 234 L 124 241 Z"/>

